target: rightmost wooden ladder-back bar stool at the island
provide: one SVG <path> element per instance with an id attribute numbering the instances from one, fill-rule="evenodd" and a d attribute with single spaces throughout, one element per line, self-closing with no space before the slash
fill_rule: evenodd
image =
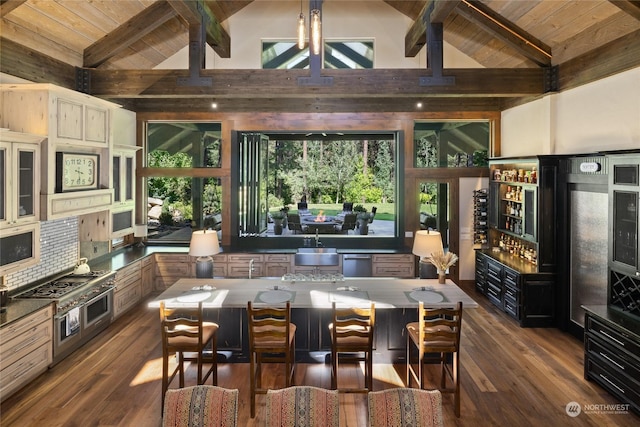
<path id="1" fill-rule="evenodd" d="M 424 308 L 418 306 L 418 321 L 407 324 L 407 387 L 413 378 L 419 388 L 424 388 L 424 364 L 440 363 L 440 391 L 454 394 L 454 411 L 460 416 L 460 328 L 462 327 L 462 302 L 455 308 Z M 417 369 L 412 355 L 418 349 Z M 449 356 L 451 355 L 451 356 Z M 449 377 L 452 387 L 447 388 Z"/>

